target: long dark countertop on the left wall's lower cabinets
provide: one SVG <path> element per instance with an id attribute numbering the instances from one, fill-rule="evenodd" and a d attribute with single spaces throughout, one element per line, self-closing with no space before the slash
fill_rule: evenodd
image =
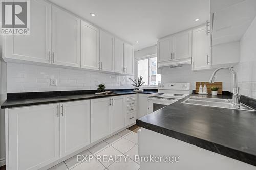
<path id="1" fill-rule="evenodd" d="M 111 91 L 111 90 L 110 90 Z M 126 94 L 150 94 L 150 93 L 155 93 L 157 91 L 154 90 L 148 90 L 148 91 L 143 91 L 143 92 L 134 92 L 132 90 L 113 90 L 116 94 L 97 94 L 95 95 L 94 93 L 89 94 L 76 94 L 76 95 L 61 95 L 61 96 L 49 96 L 49 97 L 44 97 L 44 98 L 38 98 L 38 95 L 40 95 L 40 92 L 35 92 L 36 95 L 35 98 L 29 98 L 29 99 L 24 99 L 24 98 L 15 98 L 15 99 L 7 99 L 2 105 L 1 109 L 6 109 L 6 108 L 13 108 L 13 107 L 22 107 L 22 106 L 32 106 L 32 105 L 40 105 L 40 104 L 49 104 L 49 103 L 58 103 L 58 102 L 68 102 L 68 101 L 76 101 L 76 100 L 86 100 L 86 99 L 94 99 L 94 98 L 105 98 L 105 97 L 110 97 L 110 96 L 117 96 L 117 95 L 126 95 Z M 42 92 L 44 93 L 44 92 Z M 54 92 L 53 92 L 54 93 Z M 60 93 L 60 92 L 58 92 Z M 65 93 L 65 92 L 63 92 Z M 77 92 L 74 92 L 77 93 Z M 18 95 L 18 94 L 14 94 Z M 24 94 L 23 94 L 24 95 Z"/>

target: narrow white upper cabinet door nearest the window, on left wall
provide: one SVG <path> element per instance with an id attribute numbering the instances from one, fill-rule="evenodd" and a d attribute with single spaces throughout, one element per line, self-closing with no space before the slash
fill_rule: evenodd
<path id="1" fill-rule="evenodd" d="M 132 45 L 125 44 L 125 73 L 133 75 L 134 71 L 134 49 Z"/>

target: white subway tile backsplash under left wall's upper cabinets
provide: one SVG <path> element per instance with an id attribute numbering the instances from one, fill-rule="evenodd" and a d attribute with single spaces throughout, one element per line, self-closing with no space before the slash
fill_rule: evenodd
<path id="1" fill-rule="evenodd" d="M 98 84 L 104 83 L 106 89 L 133 88 L 128 78 L 129 76 L 105 72 L 7 63 L 7 93 L 95 90 L 96 81 Z M 50 79 L 56 79 L 57 85 L 50 86 Z"/>

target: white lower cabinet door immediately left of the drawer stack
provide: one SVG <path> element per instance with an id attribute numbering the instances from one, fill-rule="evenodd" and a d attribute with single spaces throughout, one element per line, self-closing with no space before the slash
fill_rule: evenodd
<path id="1" fill-rule="evenodd" d="M 111 107 L 111 133 L 125 126 L 125 97 L 116 96 L 112 98 Z"/>

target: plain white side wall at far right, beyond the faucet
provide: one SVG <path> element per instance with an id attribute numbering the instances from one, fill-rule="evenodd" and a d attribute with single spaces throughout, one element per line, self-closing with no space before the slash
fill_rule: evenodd
<path id="1" fill-rule="evenodd" d="M 240 61 L 234 68 L 242 95 L 256 99 L 256 18 L 240 41 Z"/>

